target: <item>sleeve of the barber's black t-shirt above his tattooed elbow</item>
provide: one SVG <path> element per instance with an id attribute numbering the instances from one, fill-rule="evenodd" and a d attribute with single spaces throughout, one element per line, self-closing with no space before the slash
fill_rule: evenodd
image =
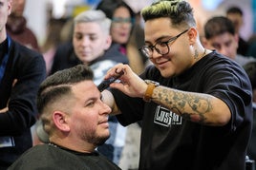
<path id="1" fill-rule="evenodd" d="M 220 71 L 220 69 L 222 69 Z M 222 101 L 231 111 L 231 130 L 235 130 L 245 120 L 249 120 L 252 110 L 251 87 L 249 80 L 242 67 L 236 65 L 224 66 L 219 70 L 212 71 L 211 75 L 205 76 L 206 93 L 211 94 Z M 214 80 L 214 81 L 211 81 Z M 207 83 L 211 82 L 211 83 Z"/>

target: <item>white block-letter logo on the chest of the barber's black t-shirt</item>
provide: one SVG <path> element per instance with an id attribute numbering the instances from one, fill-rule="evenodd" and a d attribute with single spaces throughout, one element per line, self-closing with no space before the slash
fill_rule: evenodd
<path id="1" fill-rule="evenodd" d="M 167 108 L 159 105 L 156 109 L 154 123 L 169 127 L 172 124 L 181 124 L 182 118 Z"/>

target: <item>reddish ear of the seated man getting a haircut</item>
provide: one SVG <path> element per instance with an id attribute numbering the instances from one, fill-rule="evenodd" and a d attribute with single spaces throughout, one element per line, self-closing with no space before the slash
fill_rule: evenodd
<path id="1" fill-rule="evenodd" d="M 67 114 L 62 111 L 54 111 L 53 112 L 53 123 L 55 126 L 64 132 L 70 131 L 70 125 L 66 122 Z"/>

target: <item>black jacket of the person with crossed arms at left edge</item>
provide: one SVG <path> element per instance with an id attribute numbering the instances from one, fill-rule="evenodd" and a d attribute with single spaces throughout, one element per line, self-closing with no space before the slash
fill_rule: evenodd
<path id="1" fill-rule="evenodd" d="M 11 137 L 14 147 L 0 147 L 0 169 L 32 147 L 31 126 L 36 121 L 36 94 L 46 77 L 43 56 L 10 39 L 9 59 L 0 83 L 0 140 Z M 2 63 L 2 60 L 1 60 Z M 0 65 L 1 65 L 0 63 Z M 13 85 L 14 80 L 17 82 Z M 1 141 L 0 141 L 1 144 Z"/>

